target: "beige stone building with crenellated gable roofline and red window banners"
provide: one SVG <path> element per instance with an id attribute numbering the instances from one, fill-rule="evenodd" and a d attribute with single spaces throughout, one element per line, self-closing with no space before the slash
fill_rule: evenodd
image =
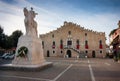
<path id="1" fill-rule="evenodd" d="M 72 22 L 49 33 L 40 35 L 46 57 L 104 57 L 106 38 L 104 32 L 84 29 Z"/>

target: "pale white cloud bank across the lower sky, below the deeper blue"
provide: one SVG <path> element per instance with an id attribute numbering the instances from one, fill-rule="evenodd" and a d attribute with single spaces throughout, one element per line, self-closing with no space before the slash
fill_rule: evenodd
<path id="1" fill-rule="evenodd" d="M 119 14 L 116 13 L 89 13 L 89 11 L 84 11 L 80 9 L 73 8 L 67 10 L 64 5 L 60 10 L 47 10 L 45 7 L 39 7 L 27 0 L 16 0 L 17 4 L 8 4 L 0 1 L 0 25 L 4 27 L 6 34 L 10 35 L 13 31 L 19 29 L 25 33 L 24 27 L 24 14 L 23 8 L 33 7 L 35 12 L 38 13 L 35 20 L 38 23 L 39 34 L 47 33 L 49 31 L 55 30 L 64 21 L 74 22 L 85 28 L 92 29 L 98 32 L 106 32 L 108 39 L 109 32 L 117 28 L 117 22 L 120 19 Z M 49 6 L 47 6 L 49 7 Z M 59 9 L 59 8 L 55 8 Z M 61 11 L 62 10 L 62 11 Z M 58 11 L 58 12 L 57 12 Z M 108 43 L 108 40 L 107 40 Z"/>

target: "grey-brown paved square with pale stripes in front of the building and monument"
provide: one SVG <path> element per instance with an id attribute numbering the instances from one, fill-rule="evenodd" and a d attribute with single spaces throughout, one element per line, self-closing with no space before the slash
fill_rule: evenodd
<path id="1" fill-rule="evenodd" d="M 120 81 L 120 63 L 112 59 L 46 59 L 52 67 L 37 72 L 0 70 L 0 81 Z"/>

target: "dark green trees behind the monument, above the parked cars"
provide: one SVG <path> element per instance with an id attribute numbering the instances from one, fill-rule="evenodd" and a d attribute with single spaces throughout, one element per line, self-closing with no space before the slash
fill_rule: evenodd
<path id="1" fill-rule="evenodd" d="M 23 35 L 20 30 L 16 30 L 12 35 L 7 36 L 4 34 L 4 29 L 0 26 L 0 47 L 3 49 L 10 49 L 17 47 L 19 37 Z"/>

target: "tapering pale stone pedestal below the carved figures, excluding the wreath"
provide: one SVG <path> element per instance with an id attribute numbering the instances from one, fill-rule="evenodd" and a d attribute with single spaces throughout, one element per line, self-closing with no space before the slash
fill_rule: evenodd
<path id="1" fill-rule="evenodd" d="M 22 46 L 28 48 L 26 57 L 17 57 L 18 49 Z M 51 62 L 46 62 L 43 55 L 42 41 L 37 37 L 28 35 L 21 36 L 18 41 L 15 58 L 12 61 L 12 66 L 21 68 L 40 68 L 47 65 L 52 65 Z"/>

